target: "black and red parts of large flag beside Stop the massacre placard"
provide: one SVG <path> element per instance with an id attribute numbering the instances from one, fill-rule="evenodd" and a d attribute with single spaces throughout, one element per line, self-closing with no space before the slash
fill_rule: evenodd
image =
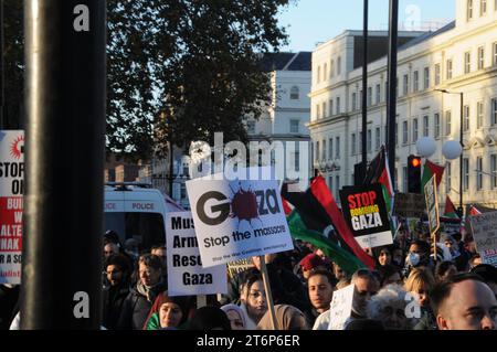
<path id="1" fill-rule="evenodd" d="M 331 225 L 335 230 L 336 237 L 334 239 L 336 243 L 342 249 L 356 256 L 364 266 L 374 268 L 373 258 L 357 243 L 330 190 L 320 175 L 313 180 L 306 192 L 288 192 L 288 185 L 284 184 L 282 196 L 295 206 L 306 228 L 322 233 L 325 228 Z"/>

